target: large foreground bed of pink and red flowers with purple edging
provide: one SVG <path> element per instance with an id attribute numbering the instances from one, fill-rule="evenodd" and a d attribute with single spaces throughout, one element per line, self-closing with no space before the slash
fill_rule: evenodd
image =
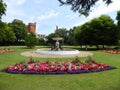
<path id="1" fill-rule="evenodd" d="M 71 62 L 37 62 L 31 60 L 11 65 L 2 71 L 13 74 L 80 74 L 101 72 L 114 68 L 107 64 L 97 63 L 91 59 L 86 60 L 84 63 L 78 59 Z"/>

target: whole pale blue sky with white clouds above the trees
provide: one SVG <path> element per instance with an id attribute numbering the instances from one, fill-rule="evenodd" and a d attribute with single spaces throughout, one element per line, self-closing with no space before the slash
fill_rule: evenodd
<path id="1" fill-rule="evenodd" d="M 69 30 L 101 15 L 109 15 L 115 21 L 117 11 L 120 10 L 120 0 L 113 0 L 108 6 L 99 0 L 92 7 L 88 17 L 73 12 L 70 6 L 60 6 L 58 0 L 4 0 L 4 2 L 7 4 L 7 11 L 2 21 L 9 23 L 19 19 L 26 25 L 29 22 L 36 22 L 36 33 L 44 35 L 53 33 L 56 26 Z"/>

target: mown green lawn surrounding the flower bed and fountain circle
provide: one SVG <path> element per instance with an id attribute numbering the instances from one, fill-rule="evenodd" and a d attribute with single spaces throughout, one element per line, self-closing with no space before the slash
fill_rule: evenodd
<path id="1" fill-rule="evenodd" d="M 3 47 L 0 47 L 3 48 Z M 6 47 L 5 47 L 6 48 Z M 25 47 L 9 47 L 15 52 L 0 55 L 0 70 L 3 68 L 29 60 L 21 56 Z M 117 69 L 89 74 L 66 74 L 66 75 L 23 75 L 0 72 L 0 90 L 119 90 L 120 88 L 120 55 L 113 55 L 104 52 L 92 52 L 93 59 L 100 63 L 115 66 Z M 39 61 L 71 61 L 69 59 L 46 59 L 34 58 Z M 80 58 L 82 61 L 86 58 Z"/>

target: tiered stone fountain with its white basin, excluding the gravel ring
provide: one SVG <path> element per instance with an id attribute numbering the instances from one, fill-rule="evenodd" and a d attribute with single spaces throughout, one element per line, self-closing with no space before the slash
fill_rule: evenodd
<path id="1" fill-rule="evenodd" d="M 58 30 L 58 26 L 56 26 L 56 30 Z M 61 46 L 60 40 L 63 40 L 62 37 L 59 37 L 59 35 L 55 35 L 54 38 L 52 38 L 55 42 L 54 46 L 51 47 L 51 50 L 36 50 L 36 53 L 38 54 L 44 54 L 44 55 L 77 55 L 79 54 L 78 50 L 74 49 L 66 49 Z"/>

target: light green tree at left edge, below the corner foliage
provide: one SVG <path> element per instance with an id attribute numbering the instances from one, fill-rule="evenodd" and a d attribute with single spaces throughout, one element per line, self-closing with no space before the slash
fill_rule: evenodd
<path id="1" fill-rule="evenodd" d="M 13 42 L 16 37 L 13 30 L 8 26 L 7 23 L 0 21 L 0 42 L 4 45 L 8 42 Z"/>

